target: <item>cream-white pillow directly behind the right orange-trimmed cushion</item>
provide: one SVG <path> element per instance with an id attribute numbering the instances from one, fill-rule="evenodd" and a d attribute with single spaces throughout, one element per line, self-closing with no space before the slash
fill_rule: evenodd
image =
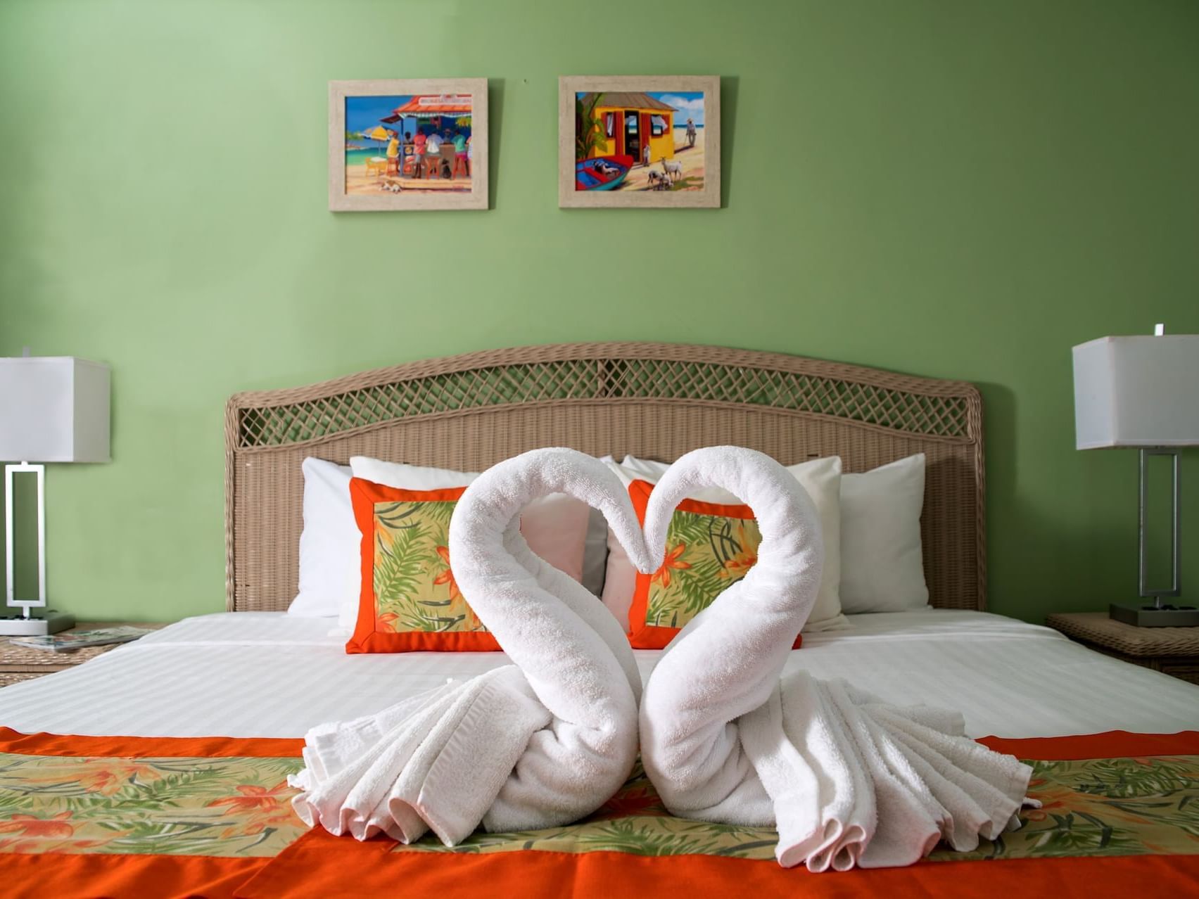
<path id="1" fill-rule="evenodd" d="M 621 463 L 610 458 L 604 461 L 620 479 L 628 485 L 633 481 L 649 481 L 656 484 L 670 466 L 662 461 L 638 459 L 626 455 Z M 815 605 L 808 615 L 803 630 L 836 630 L 849 627 L 845 616 L 840 614 L 840 457 L 830 455 L 823 459 L 802 461 L 787 469 L 808 491 L 820 515 L 820 530 L 824 533 L 825 561 L 820 590 Z M 718 487 L 707 487 L 689 496 L 693 500 L 719 503 L 740 503 L 741 499 Z M 633 590 L 637 585 L 637 569 L 628 560 L 620 542 L 608 537 L 608 573 L 603 586 L 603 603 L 616 616 L 621 626 L 628 627 L 628 609 L 633 604 Z"/>

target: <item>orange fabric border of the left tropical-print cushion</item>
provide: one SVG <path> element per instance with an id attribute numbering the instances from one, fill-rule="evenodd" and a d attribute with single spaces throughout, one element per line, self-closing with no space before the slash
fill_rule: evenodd
<path id="1" fill-rule="evenodd" d="M 427 633 L 405 630 L 385 634 L 375 630 L 374 595 L 374 505 L 376 502 L 454 502 L 465 487 L 441 490 L 403 490 L 360 477 L 350 478 L 354 520 L 362 535 L 362 592 L 354 635 L 345 644 L 348 653 L 359 652 L 499 652 L 500 644 L 489 633 Z"/>

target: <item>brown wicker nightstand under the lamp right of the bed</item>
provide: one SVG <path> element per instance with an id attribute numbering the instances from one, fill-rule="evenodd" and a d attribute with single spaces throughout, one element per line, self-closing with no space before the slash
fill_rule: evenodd
<path id="1" fill-rule="evenodd" d="M 1104 656 L 1199 684 L 1199 627 L 1134 627 L 1104 611 L 1059 613 L 1046 625 Z"/>

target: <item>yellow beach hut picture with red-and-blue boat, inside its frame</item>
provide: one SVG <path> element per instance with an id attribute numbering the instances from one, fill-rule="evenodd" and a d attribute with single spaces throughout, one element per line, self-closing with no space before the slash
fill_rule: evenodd
<path id="1" fill-rule="evenodd" d="M 576 191 L 704 189 L 704 95 L 574 95 Z"/>

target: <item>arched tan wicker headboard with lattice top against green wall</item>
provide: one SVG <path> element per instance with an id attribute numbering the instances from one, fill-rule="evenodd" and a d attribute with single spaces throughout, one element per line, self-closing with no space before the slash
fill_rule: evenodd
<path id="1" fill-rule="evenodd" d="M 540 446 L 669 461 L 721 444 L 784 465 L 837 454 L 845 471 L 926 453 L 930 602 L 984 608 L 982 398 L 972 385 L 658 343 L 489 350 L 231 397 L 228 608 L 281 610 L 295 596 L 306 455 L 481 471 Z"/>

